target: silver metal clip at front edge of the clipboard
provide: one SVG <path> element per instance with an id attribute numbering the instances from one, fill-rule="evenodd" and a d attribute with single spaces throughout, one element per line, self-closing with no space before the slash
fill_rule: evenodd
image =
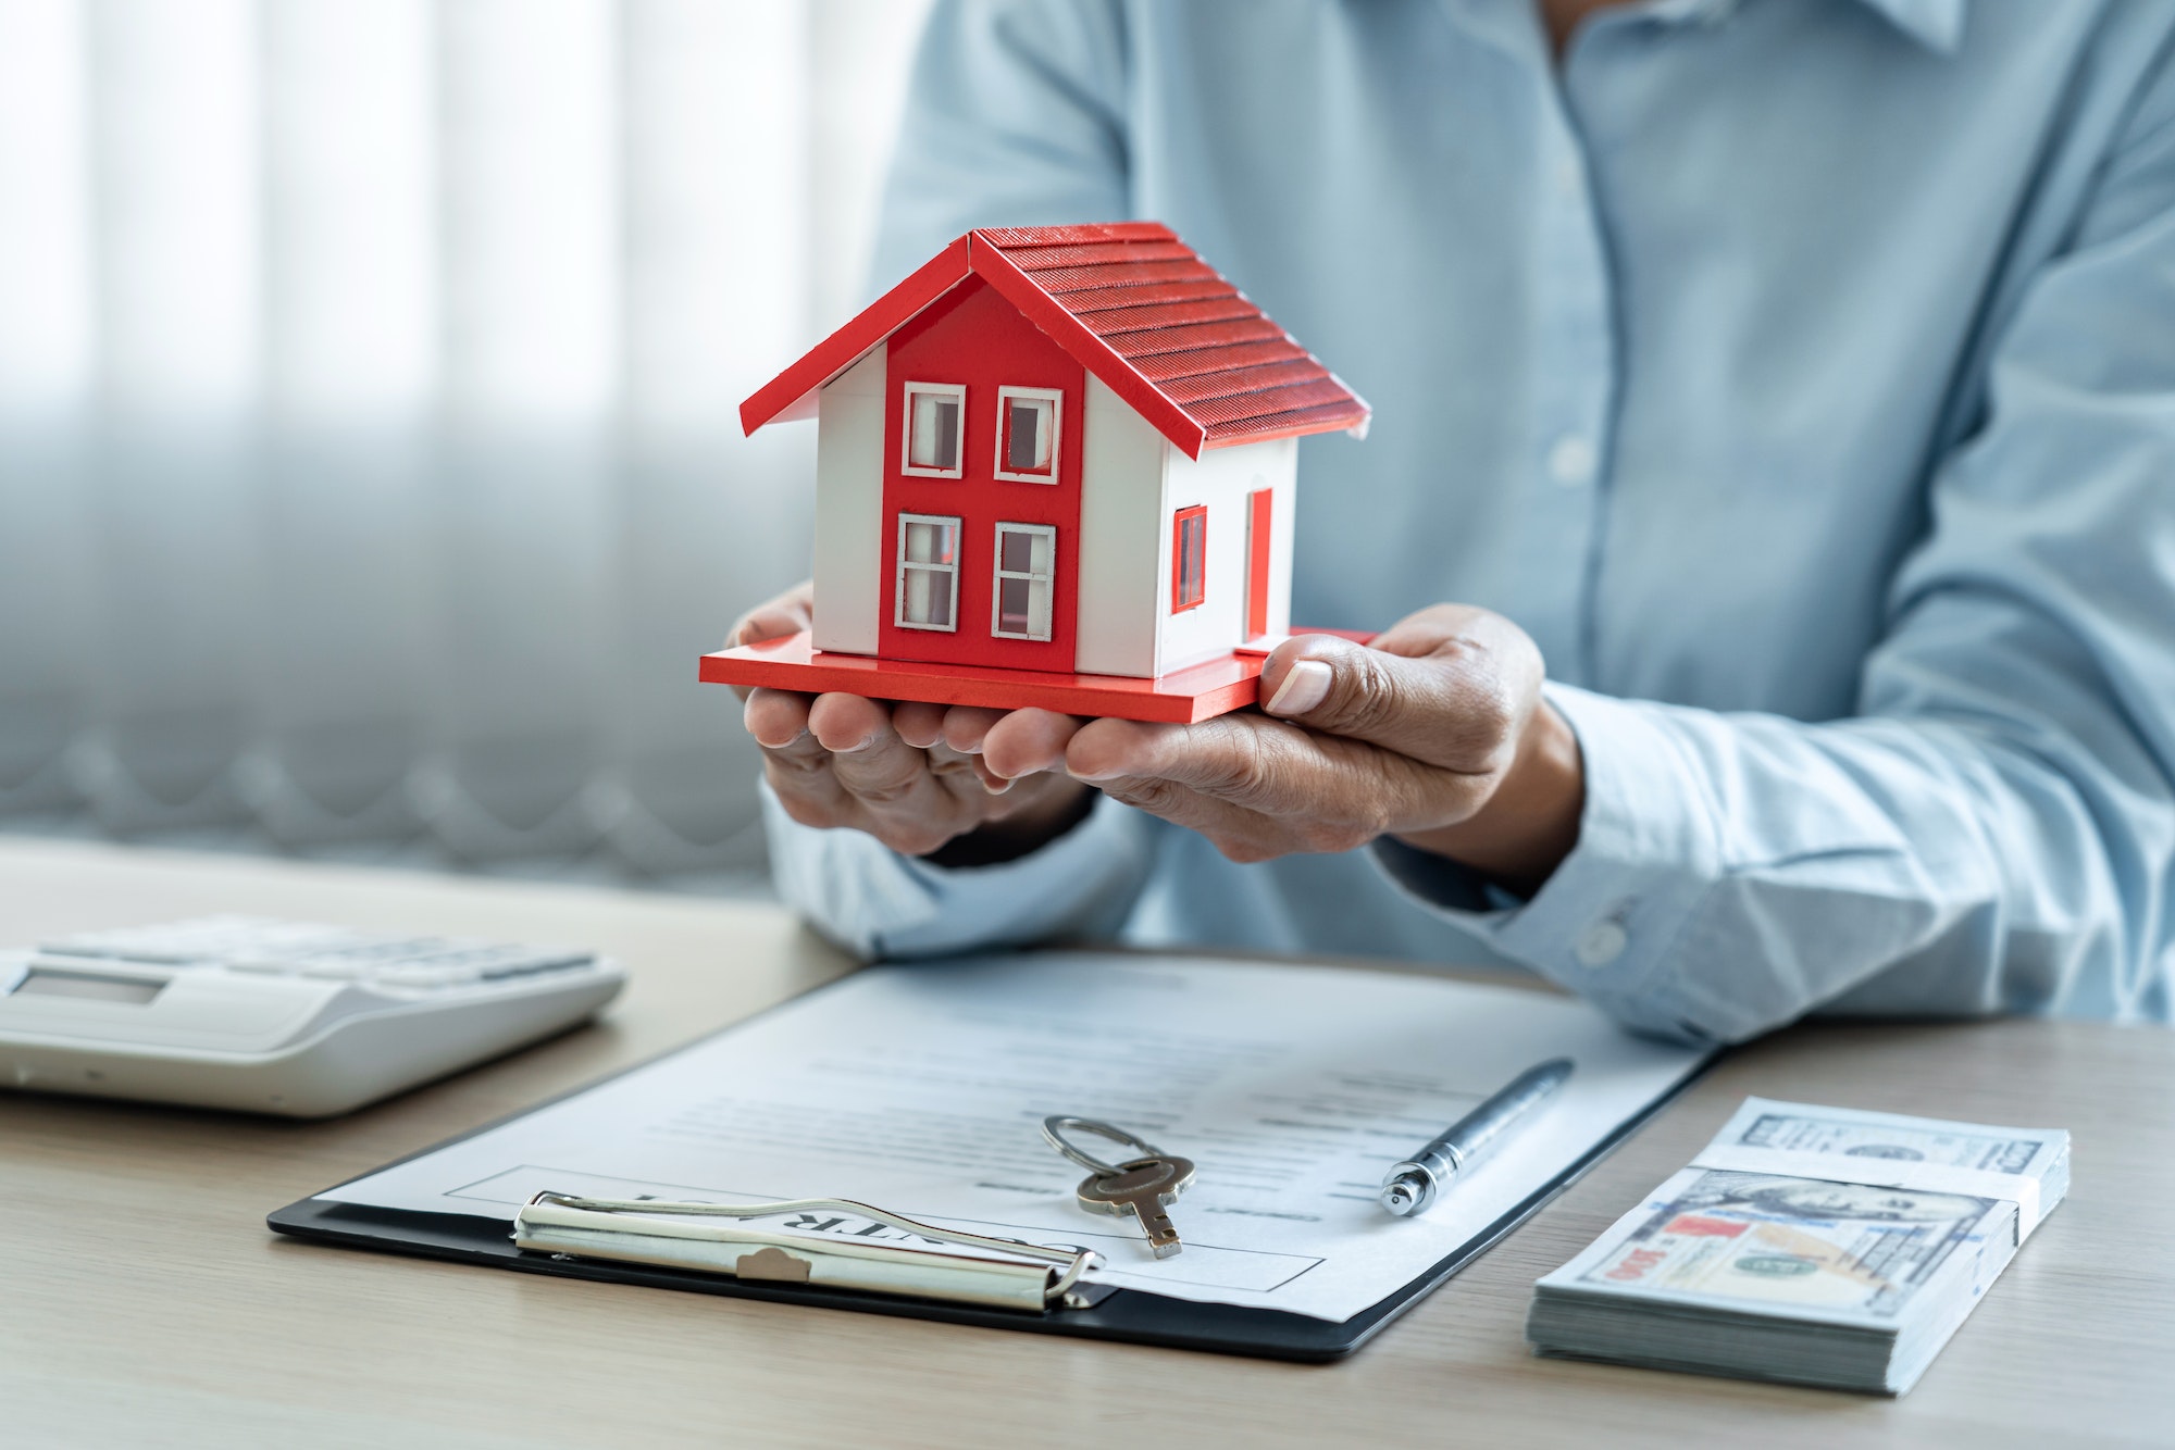
<path id="1" fill-rule="evenodd" d="M 737 1222 L 779 1213 L 850 1213 L 922 1239 L 1007 1254 L 1007 1259 L 979 1259 L 868 1239 L 811 1239 L 798 1233 L 744 1228 Z M 733 1222 L 720 1224 L 716 1220 Z M 905 1293 L 1024 1313 L 1085 1309 L 1090 1300 L 1074 1293 L 1074 1287 L 1081 1274 L 1103 1263 L 1103 1257 L 1088 1248 L 1064 1250 L 987 1239 L 979 1233 L 920 1224 L 850 1198 L 700 1204 L 544 1191 L 513 1215 L 513 1243 L 539 1254 L 731 1274 L 744 1283 Z"/>

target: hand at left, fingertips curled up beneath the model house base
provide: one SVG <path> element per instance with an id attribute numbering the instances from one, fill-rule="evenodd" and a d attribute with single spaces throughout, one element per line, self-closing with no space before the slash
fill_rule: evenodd
<path id="1" fill-rule="evenodd" d="M 726 648 L 809 628 L 813 600 L 809 583 L 794 585 L 742 615 Z M 737 693 L 763 776 L 803 826 L 850 826 L 909 857 L 968 848 L 961 837 L 972 837 L 966 865 L 1024 854 L 1085 813 L 1090 787 L 1064 774 L 1081 726 L 1072 715 Z"/>

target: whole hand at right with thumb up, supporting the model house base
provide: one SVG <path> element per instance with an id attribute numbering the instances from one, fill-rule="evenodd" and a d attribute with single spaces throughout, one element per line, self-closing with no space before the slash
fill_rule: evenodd
<path id="1" fill-rule="evenodd" d="M 1233 861 L 1394 835 L 1531 891 L 1577 843 L 1586 800 L 1577 737 L 1542 678 L 1516 624 L 1435 604 L 1370 646 L 1279 646 L 1264 713 L 1090 722 L 1066 741 L 1066 770 Z"/>

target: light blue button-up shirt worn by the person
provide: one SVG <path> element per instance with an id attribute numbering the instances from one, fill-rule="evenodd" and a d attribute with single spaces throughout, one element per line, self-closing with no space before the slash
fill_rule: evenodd
<path id="1" fill-rule="evenodd" d="M 942 4 L 879 272 L 1159 217 L 1375 404 L 1301 448 L 1294 620 L 1496 609 L 1586 757 L 1527 902 L 1233 865 L 1109 800 L 942 870 L 772 802 L 887 954 L 1070 930 L 1516 963 L 1636 1030 L 2166 1020 L 2175 7 Z"/>

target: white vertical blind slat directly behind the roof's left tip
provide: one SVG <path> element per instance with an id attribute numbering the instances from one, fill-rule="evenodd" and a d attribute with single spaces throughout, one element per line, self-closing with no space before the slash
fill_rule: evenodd
<path id="1" fill-rule="evenodd" d="M 637 0 L 624 13 L 626 491 L 616 574 L 626 609 L 609 652 L 613 772 L 592 787 L 589 809 L 633 861 L 679 863 L 685 841 L 718 833 L 755 846 L 755 772 L 716 767 L 716 741 L 737 739 L 739 704 L 689 687 L 685 624 L 707 622 L 694 643 L 713 648 L 748 600 L 807 572 L 807 554 L 779 541 L 807 541 L 811 441 L 794 430 L 742 439 L 737 407 L 816 337 L 811 207 L 837 185 L 813 172 L 807 143 L 811 74 L 835 65 L 813 50 L 822 9 Z M 718 85 L 720 57 L 768 74 Z M 868 137 L 883 135 L 866 128 L 863 150 L 881 150 Z M 750 339 L 796 341 L 766 357 Z M 731 489 L 718 487 L 724 459 Z M 683 707 L 689 693 L 696 709 Z"/>

